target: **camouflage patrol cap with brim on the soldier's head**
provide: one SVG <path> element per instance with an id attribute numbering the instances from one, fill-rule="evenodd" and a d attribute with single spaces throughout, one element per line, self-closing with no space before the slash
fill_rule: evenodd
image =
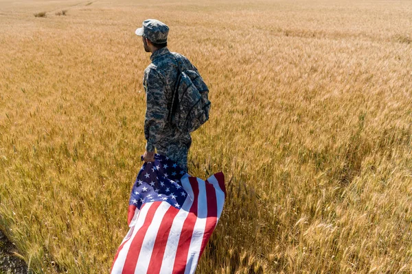
<path id="1" fill-rule="evenodd" d="M 143 21 L 143 27 L 136 29 L 135 34 L 148 38 L 150 42 L 163 44 L 168 41 L 169 27 L 156 19 Z"/>

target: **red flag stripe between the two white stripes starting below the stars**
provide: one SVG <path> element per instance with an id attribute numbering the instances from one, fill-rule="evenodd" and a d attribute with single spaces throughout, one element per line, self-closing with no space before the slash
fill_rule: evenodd
<path id="1" fill-rule="evenodd" d="M 140 227 L 139 231 L 135 235 L 135 238 L 133 238 L 133 242 L 130 244 L 122 274 L 135 273 L 137 259 L 139 258 L 144 236 L 146 236 L 149 225 L 152 223 L 156 210 L 160 205 L 161 202 L 156 201 L 152 204 L 152 206 L 150 206 L 146 219 L 144 220 L 144 224 Z"/>

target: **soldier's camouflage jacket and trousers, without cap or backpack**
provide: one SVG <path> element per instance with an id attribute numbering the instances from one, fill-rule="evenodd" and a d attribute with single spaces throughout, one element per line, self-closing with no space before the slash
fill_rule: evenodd
<path id="1" fill-rule="evenodd" d="M 168 48 L 155 51 L 152 63 L 144 71 L 143 85 L 146 91 L 146 117 L 144 134 L 146 150 L 163 154 L 176 161 L 187 171 L 187 152 L 192 144 L 189 132 L 178 129 L 168 123 L 168 112 L 172 105 L 172 93 L 178 77 L 178 64 L 175 56 L 181 60 L 181 66 L 197 72 L 185 56 L 171 53 Z"/>

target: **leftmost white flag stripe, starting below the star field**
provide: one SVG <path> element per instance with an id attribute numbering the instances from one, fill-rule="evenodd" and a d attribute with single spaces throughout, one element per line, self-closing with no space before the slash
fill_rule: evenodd
<path id="1" fill-rule="evenodd" d="M 129 237 L 129 240 L 128 242 L 126 242 L 122 250 L 119 252 L 119 256 L 117 256 L 115 264 L 113 264 L 113 269 L 111 271 L 111 274 L 121 274 L 122 273 L 124 262 L 126 262 L 126 256 L 130 248 L 130 244 L 133 242 L 133 238 L 135 238 L 137 232 L 144 224 L 144 220 L 146 219 L 146 215 L 148 214 L 150 206 L 152 206 L 152 203 L 146 203 L 145 206 L 141 208 L 139 218 L 137 218 L 136 225 L 133 227 L 130 227 L 129 232 L 125 237 L 125 239 Z M 130 232 L 132 234 L 131 236 L 129 235 Z"/>

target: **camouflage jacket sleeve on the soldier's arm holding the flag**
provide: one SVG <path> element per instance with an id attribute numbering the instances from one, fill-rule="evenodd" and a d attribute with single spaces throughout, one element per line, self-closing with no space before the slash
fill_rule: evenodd
<path id="1" fill-rule="evenodd" d="M 155 145 L 161 138 L 161 132 L 167 118 L 167 101 L 165 82 L 157 71 L 148 69 L 144 73 L 144 89 L 146 91 L 146 116 L 144 119 L 144 136 L 146 151 L 155 151 Z"/>

